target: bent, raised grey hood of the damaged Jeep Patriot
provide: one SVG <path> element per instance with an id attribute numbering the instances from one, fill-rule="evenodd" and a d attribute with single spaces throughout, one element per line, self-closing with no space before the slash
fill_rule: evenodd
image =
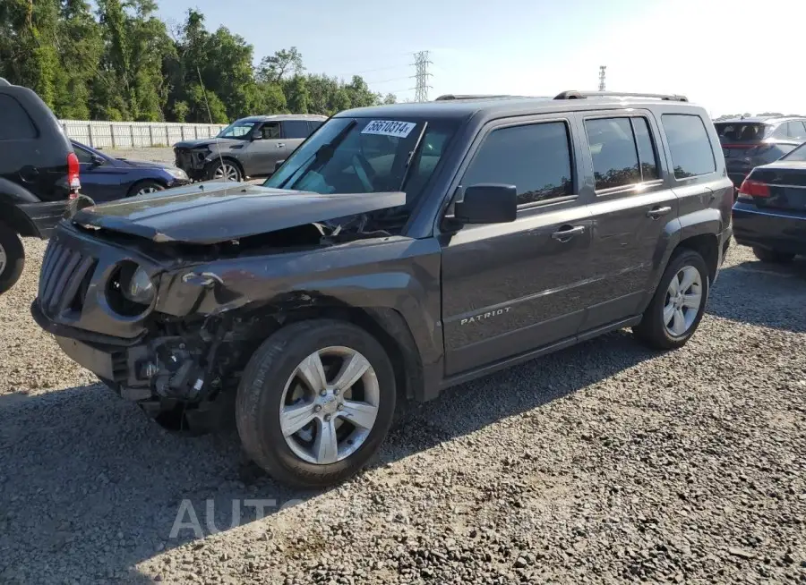
<path id="1" fill-rule="evenodd" d="M 403 192 L 321 195 L 203 182 L 84 208 L 72 221 L 154 242 L 211 244 L 405 203 Z"/>

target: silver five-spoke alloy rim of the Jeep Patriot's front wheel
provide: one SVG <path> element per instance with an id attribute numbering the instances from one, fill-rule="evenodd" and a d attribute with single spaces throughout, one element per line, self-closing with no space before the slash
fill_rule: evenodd
<path id="1" fill-rule="evenodd" d="M 348 347 L 313 352 L 286 382 L 279 422 L 291 451 L 305 462 L 339 462 L 364 445 L 381 391 L 364 355 Z"/>

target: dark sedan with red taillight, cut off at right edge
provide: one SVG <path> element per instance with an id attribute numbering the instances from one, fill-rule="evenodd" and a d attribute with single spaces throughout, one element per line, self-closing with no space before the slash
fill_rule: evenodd
<path id="1" fill-rule="evenodd" d="M 806 144 L 748 174 L 733 205 L 733 237 L 765 262 L 806 255 Z"/>

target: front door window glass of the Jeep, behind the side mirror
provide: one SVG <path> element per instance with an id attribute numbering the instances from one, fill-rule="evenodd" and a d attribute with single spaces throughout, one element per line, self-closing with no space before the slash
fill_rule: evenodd
<path id="1" fill-rule="evenodd" d="M 536 123 L 490 132 L 462 179 L 464 187 L 482 183 L 515 185 L 519 205 L 572 195 L 566 123 Z"/>

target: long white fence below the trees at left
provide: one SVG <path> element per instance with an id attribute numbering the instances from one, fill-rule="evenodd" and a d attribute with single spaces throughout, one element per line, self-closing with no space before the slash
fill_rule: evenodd
<path id="1" fill-rule="evenodd" d="M 180 140 L 210 138 L 226 128 L 219 124 L 160 122 L 90 122 L 59 120 L 68 138 L 92 148 L 169 147 Z"/>

